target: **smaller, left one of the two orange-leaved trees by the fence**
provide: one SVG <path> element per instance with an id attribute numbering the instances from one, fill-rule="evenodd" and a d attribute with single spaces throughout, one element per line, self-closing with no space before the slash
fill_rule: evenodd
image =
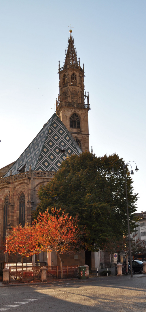
<path id="1" fill-rule="evenodd" d="M 29 257 L 39 252 L 38 240 L 35 232 L 35 226 L 25 224 L 12 227 L 10 234 L 7 236 L 6 252 L 9 254 L 20 254 L 22 262 L 22 279 L 23 282 L 23 258 Z"/>

